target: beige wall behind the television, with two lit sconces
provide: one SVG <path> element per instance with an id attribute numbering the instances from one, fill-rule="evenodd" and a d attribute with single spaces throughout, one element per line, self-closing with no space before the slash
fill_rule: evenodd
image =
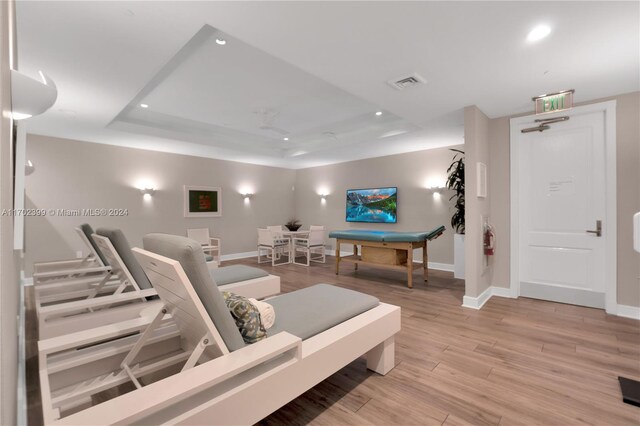
<path id="1" fill-rule="evenodd" d="M 461 149 L 461 146 L 456 147 Z M 336 229 L 383 229 L 419 231 L 445 225 L 447 231 L 429 243 L 429 261 L 453 264 L 453 210 L 444 191 L 436 197 L 427 187 L 444 185 L 453 153 L 447 148 L 350 161 L 330 166 L 298 170 L 296 174 L 296 213 L 305 226 L 324 225 Z M 398 187 L 398 223 L 369 224 L 345 221 L 347 189 Z M 319 192 L 327 192 L 322 203 Z M 335 240 L 327 240 L 335 248 Z M 343 247 L 346 249 L 346 247 Z M 422 254 L 418 254 L 422 259 Z"/>

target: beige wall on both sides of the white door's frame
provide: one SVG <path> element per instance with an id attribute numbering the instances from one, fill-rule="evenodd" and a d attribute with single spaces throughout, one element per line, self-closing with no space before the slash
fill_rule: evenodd
<path id="1" fill-rule="evenodd" d="M 633 250 L 631 222 L 633 214 L 640 211 L 640 92 L 598 99 L 581 105 L 612 99 L 616 101 L 618 303 L 640 306 L 640 254 Z M 498 236 L 493 285 L 498 287 L 509 287 L 510 118 L 496 118 L 489 125 L 491 217 Z"/>

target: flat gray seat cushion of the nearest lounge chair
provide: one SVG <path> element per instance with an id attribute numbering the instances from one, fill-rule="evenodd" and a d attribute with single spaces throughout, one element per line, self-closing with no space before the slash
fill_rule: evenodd
<path id="1" fill-rule="evenodd" d="M 369 309 L 380 301 L 368 294 L 328 284 L 317 284 L 267 301 L 276 311 L 276 322 L 267 334 L 286 331 L 301 339 L 340 324 Z"/>

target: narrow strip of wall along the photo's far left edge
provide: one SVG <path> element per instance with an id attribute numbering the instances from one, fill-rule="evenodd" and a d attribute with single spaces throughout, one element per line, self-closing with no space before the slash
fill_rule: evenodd
<path id="1" fill-rule="evenodd" d="M 13 2 L 0 4 L 0 209 L 13 207 L 13 160 L 10 34 L 14 22 Z M 18 376 L 17 321 L 19 284 L 16 273 L 19 255 L 13 251 L 13 220 L 0 216 L 0 424 L 16 423 L 16 390 Z"/>

